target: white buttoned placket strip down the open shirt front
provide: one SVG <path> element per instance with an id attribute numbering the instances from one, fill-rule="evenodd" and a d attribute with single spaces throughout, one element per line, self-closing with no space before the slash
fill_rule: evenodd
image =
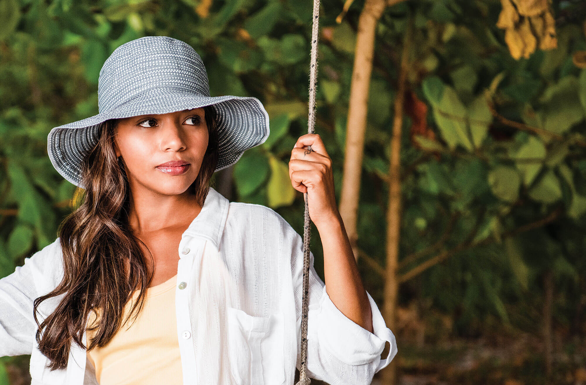
<path id="1" fill-rule="evenodd" d="M 195 287 L 191 287 L 193 280 L 190 277 L 197 277 L 193 269 L 198 263 L 194 263 L 194 261 L 201 257 L 202 251 L 202 240 L 193 239 L 190 236 L 183 237 L 179 244 L 179 262 L 177 266 L 178 285 L 175 288 L 175 311 L 179 352 L 183 367 L 183 381 L 185 383 L 192 383 L 193 380 L 197 379 L 195 346 L 193 345 L 192 336 L 194 328 L 192 328 L 192 320 L 189 315 L 189 294 L 196 295 L 194 291 Z"/>

